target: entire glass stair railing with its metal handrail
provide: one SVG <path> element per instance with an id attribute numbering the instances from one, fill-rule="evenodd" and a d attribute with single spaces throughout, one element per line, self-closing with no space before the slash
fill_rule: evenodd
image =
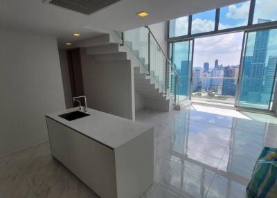
<path id="1" fill-rule="evenodd" d="M 116 33 L 139 59 L 163 93 L 179 105 L 179 76 L 148 26 Z"/>

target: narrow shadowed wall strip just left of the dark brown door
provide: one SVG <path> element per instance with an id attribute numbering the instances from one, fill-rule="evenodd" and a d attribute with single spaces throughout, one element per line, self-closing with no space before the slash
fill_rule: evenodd
<path id="1" fill-rule="evenodd" d="M 66 109 L 73 107 L 71 84 L 69 76 L 69 64 L 67 62 L 66 50 L 59 49 L 60 67 L 62 71 L 62 85 L 64 87 L 64 100 Z"/>

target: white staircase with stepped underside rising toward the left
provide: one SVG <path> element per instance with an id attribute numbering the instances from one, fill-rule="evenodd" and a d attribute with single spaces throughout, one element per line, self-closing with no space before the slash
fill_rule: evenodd
<path id="1" fill-rule="evenodd" d="M 155 75 L 154 69 L 150 69 L 149 73 L 147 58 L 133 47 L 132 41 L 125 40 L 123 44 L 118 34 L 111 32 L 76 42 L 75 46 L 85 48 L 87 55 L 94 55 L 98 65 L 126 64 L 134 68 L 134 93 L 141 95 L 145 108 L 161 111 L 172 109 L 174 96 L 172 98 L 170 93 L 166 93 L 166 86 L 169 83 L 168 85 L 161 84 L 164 80 L 161 81 L 161 77 Z"/>

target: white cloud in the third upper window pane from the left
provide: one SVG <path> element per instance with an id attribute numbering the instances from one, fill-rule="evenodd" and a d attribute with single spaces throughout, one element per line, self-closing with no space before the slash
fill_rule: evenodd
<path id="1" fill-rule="evenodd" d="M 249 14 L 250 1 L 246 1 L 241 6 L 235 4 L 228 6 L 226 17 L 228 19 L 247 19 Z"/>

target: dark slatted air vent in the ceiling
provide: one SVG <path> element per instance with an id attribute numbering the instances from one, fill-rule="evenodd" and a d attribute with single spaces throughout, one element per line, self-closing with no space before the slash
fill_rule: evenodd
<path id="1" fill-rule="evenodd" d="M 121 0 L 43 0 L 42 2 L 90 15 L 118 1 Z"/>

